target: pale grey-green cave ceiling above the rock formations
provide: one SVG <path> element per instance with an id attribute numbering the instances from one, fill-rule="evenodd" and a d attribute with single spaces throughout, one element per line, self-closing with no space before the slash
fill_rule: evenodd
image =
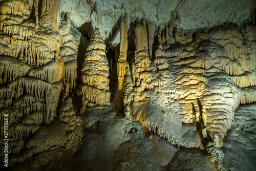
<path id="1" fill-rule="evenodd" d="M 248 1 L 71 1 L 60 3 L 61 11 L 71 14 L 76 26 L 91 22 L 99 27 L 103 39 L 109 36 L 120 16 L 128 17 L 128 25 L 136 20 L 146 19 L 155 26 L 196 30 L 232 22 L 241 25 L 251 17 L 255 8 L 253 0 Z M 225 11 L 225 12 L 223 12 Z M 90 17 L 88 17 L 90 16 Z M 193 21 L 193 22 L 191 22 Z M 108 27 L 105 27 L 108 26 Z M 118 44 L 117 44 L 118 45 Z"/>

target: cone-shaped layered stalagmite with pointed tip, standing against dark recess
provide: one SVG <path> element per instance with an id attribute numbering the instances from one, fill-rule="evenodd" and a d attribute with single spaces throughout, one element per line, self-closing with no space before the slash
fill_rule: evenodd
<path id="1" fill-rule="evenodd" d="M 95 30 L 81 70 L 81 82 L 78 95 L 86 96 L 88 106 L 110 105 L 109 66 L 105 54 L 106 46 L 98 29 Z"/>

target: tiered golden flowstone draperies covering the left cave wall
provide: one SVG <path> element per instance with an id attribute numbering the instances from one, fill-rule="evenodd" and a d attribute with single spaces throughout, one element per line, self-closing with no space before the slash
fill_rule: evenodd
<path id="1" fill-rule="evenodd" d="M 59 81 L 63 77 L 64 63 L 59 56 L 59 34 L 52 30 L 51 25 L 47 28 L 48 32 L 41 26 L 35 28 L 35 23 L 28 19 L 33 5 L 24 1 L 1 3 L 0 37 L 4 55 L 0 63 L 1 83 L 4 83 L 1 88 L 1 108 L 9 115 L 12 115 L 11 111 L 20 111 L 23 115 L 41 111 L 37 112 L 42 115 L 38 117 L 50 122 L 59 100 L 62 87 Z M 55 5 L 58 7 L 58 3 Z M 51 4 L 48 6 L 55 8 Z M 58 10 L 55 12 L 52 11 L 49 17 L 55 16 Z M 45 22 L 48 19 L 46 17 Z M 14 23 L 11 25 L 8 20 Z M 16 100 L 13 101 L 13 98 Z M 30 121 L 25 119 L 24 122 Z"/>

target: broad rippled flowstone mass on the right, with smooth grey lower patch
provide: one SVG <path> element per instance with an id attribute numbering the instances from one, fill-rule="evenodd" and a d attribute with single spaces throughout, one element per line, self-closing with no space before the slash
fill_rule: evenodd
<path id="1" fill-rule="evenodd" d="M 248 29 L 247 26 L 245 29 Z M 199 39 L 202 33 L 205 34 L 203 40 Z M 253 102 L 255 96 L 255 56 L 247 51 L 246 44 L 251 43 L 248 43 L 246 37 L 235 26 L 224 25 L 208 33 L 197 33 L 195 40 L 189 43 L 177 42 L 176 46 L 161 46 L 154 60 L 157 71 L 140 78 L 146 83 L 155 82 L 154 86 L 156 83 L 160 86 L 153 88 L 153 91 L 142 91 L 150 97 L 144 100 L 150 104 L 145 106 L 149 112 L 145 114 L 145 109 L 138 110 L 137 106 L 145 105 L 145 102 L 138 99 L 132 105 L 135 109 L 133 115 L 148 129 L 174 144 L 202 146 L 195 132 L 206 128 L 211 138 L 219 134 L 222 146 L 222 139 L 234 118 L 234 110 L 240 104 Z M 211 41 L 207 42 L 208 39 Z M 154 80 L 148 80 L 154 77 Z M 156 116 L 156 113 L 159 115 Z M 179 133 L 175 133 L 177 125 L 172 130 L 172 123 L 168 123 L 165 118 L 170 121 L 177 119 L 174 123 L 180 123 Z M 195 126 L 191 125 L 193 123 Z M 191 137 L 188 138 L 186 130 L 190 130 Z M 186 136 L 182 136 L 182 133 Z"/>

